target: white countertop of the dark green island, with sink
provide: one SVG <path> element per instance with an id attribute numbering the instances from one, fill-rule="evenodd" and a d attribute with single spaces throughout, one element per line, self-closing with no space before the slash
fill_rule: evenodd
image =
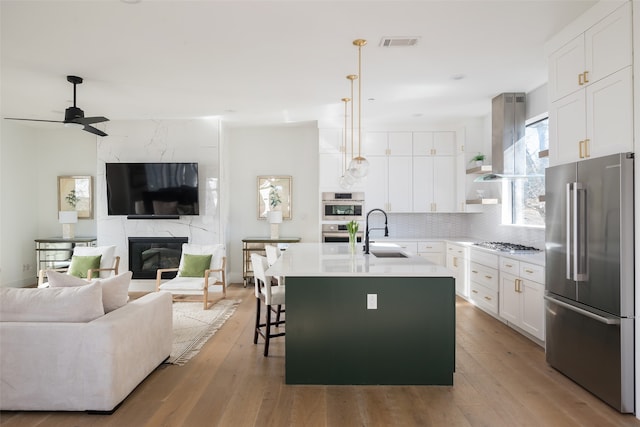
<path id="1" fill-rule="evenodd" d="M 393 245 L 371 245 L 370 251 L 399 251 Z M 378 258 L 365 255 L 362 245 L 349 252 L 348 243 L 292 243 L 278 261 L 267 270 L 269 276 L 403 276 L 452 277 L 447 268 L 412 253 L 408 258 Z"/>

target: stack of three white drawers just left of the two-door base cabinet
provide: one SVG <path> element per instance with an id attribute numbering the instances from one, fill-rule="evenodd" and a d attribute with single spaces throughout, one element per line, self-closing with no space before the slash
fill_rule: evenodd
<path id="1" fill-rule="evenodd" d="M 498 258 L 487 252 L 470 251 L 469 300 L 495 316 L 498 316 Z"/>

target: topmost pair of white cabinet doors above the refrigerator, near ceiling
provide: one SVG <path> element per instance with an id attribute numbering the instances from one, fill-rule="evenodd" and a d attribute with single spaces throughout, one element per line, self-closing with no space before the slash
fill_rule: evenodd
<path id="1" fill-rule="evenodd" d="M 627 2 L 550 55 L 549 98 L 556 101 L 631 63 L 631 3 Z"/>

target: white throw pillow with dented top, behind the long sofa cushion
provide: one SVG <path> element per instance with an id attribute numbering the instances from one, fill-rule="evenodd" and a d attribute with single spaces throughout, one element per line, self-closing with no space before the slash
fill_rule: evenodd
<path id="1" fill-rule="evenodd" d="M 117 276 L 97 279 L 91 282 L 99 283 L 102 288 L 102 303 L 105 313 L 109 313 L 127 303 L 129 300 L 129 283 L 131 283 L 132 275 L 132 272 L 126 271 Z M 86 286 L 88 284 L 84 279 L 79 279 L 58 271 L 47 271 L 47 277 L 49 278 L 49 286 L 52 288 Z"/>

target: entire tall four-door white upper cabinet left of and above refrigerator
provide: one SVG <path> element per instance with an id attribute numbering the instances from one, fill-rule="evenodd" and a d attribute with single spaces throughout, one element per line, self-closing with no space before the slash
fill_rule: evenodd
<path id="1" fill-rule="evenodd" d="M 549 57 L 549 164 L 633 151 L 631 3 Z"/>

